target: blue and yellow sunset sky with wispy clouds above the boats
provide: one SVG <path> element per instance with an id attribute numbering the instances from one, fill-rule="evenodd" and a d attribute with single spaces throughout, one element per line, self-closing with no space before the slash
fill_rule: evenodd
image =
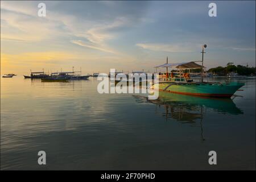
<path id="1" fill-rule="evenodd" d="M 207 68 L 255 67 L 255 1 L 1 1 L 1 75 L 153 72 L 200 61 L 202 44 Z"/>

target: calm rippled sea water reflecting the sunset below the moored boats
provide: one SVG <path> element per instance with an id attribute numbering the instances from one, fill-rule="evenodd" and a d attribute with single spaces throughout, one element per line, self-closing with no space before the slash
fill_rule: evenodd
<path id="1" fill-rule="evenodd" d="M 99 94 L 96 78 L 1 78 L 1 169 L 255 169 L 255 77 L 234 81 L 232 99 L 148 101 Z"/>

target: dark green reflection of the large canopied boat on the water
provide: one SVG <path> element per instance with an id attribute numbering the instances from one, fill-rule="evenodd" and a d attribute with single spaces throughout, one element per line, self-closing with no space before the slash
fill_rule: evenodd
<path id="1" fill-rule="evenodd" d="M 166 121 L 178 121 L 200 127 L 202 141 L 205 140 L 203 121 L 207 111 L 232 115 L 243 114 L 231 98 L 196 97 L 166 92 L 159 92 L 157 100 L 148 100 L 147 97 L 141 96 L 134 97 L 137 102 L 155 104 L 155 114 L 166 118 Z"/>

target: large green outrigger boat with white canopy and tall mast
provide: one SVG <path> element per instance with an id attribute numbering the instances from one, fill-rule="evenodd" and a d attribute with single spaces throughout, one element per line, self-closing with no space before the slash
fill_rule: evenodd
<path id="1" fill-rule="evenodd" d="M 205 53 L 204 48 L 206 47 L 206 45 L 203 46 L 203 55 Z M 245 85 L 239 82 L 221 83 L 203 81 L 203 60 L 204 59 L 202 59 L 202 61 L 189 61 L 184 63 L 168 64 L 167 57 L 166 64 L 158 65 L 155 67 L 166 68 L 166 75 L 159 75 L 159 82 L 151 85 L 151 89 L 156 88 L 156 84 L 158 84 L 158 90 L 161 92 L 171 92 L 204 97 L 231 97 L 238 89 Z M 202 65 L 199 65 L 195 62 L 202 62 Z M 173 72 L 169 74 L 168 68 L 179 69 L 179 75 L 175 75 Z M 189 76 L 188 71 L 191 69 L 201 69 L 200 82 L 193 81 L 193 79 Z"/>

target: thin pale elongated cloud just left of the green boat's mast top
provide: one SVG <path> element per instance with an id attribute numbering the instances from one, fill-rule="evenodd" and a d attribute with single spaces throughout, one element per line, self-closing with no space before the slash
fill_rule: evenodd
<path id="1" fill-rule="evenodd" d="M 150 51 L 165 51 L 165 52 L 192 52 L 194 49 L 188 44 L 161 44 L 161 43 L 138 43 L 136 46 Z"/>

